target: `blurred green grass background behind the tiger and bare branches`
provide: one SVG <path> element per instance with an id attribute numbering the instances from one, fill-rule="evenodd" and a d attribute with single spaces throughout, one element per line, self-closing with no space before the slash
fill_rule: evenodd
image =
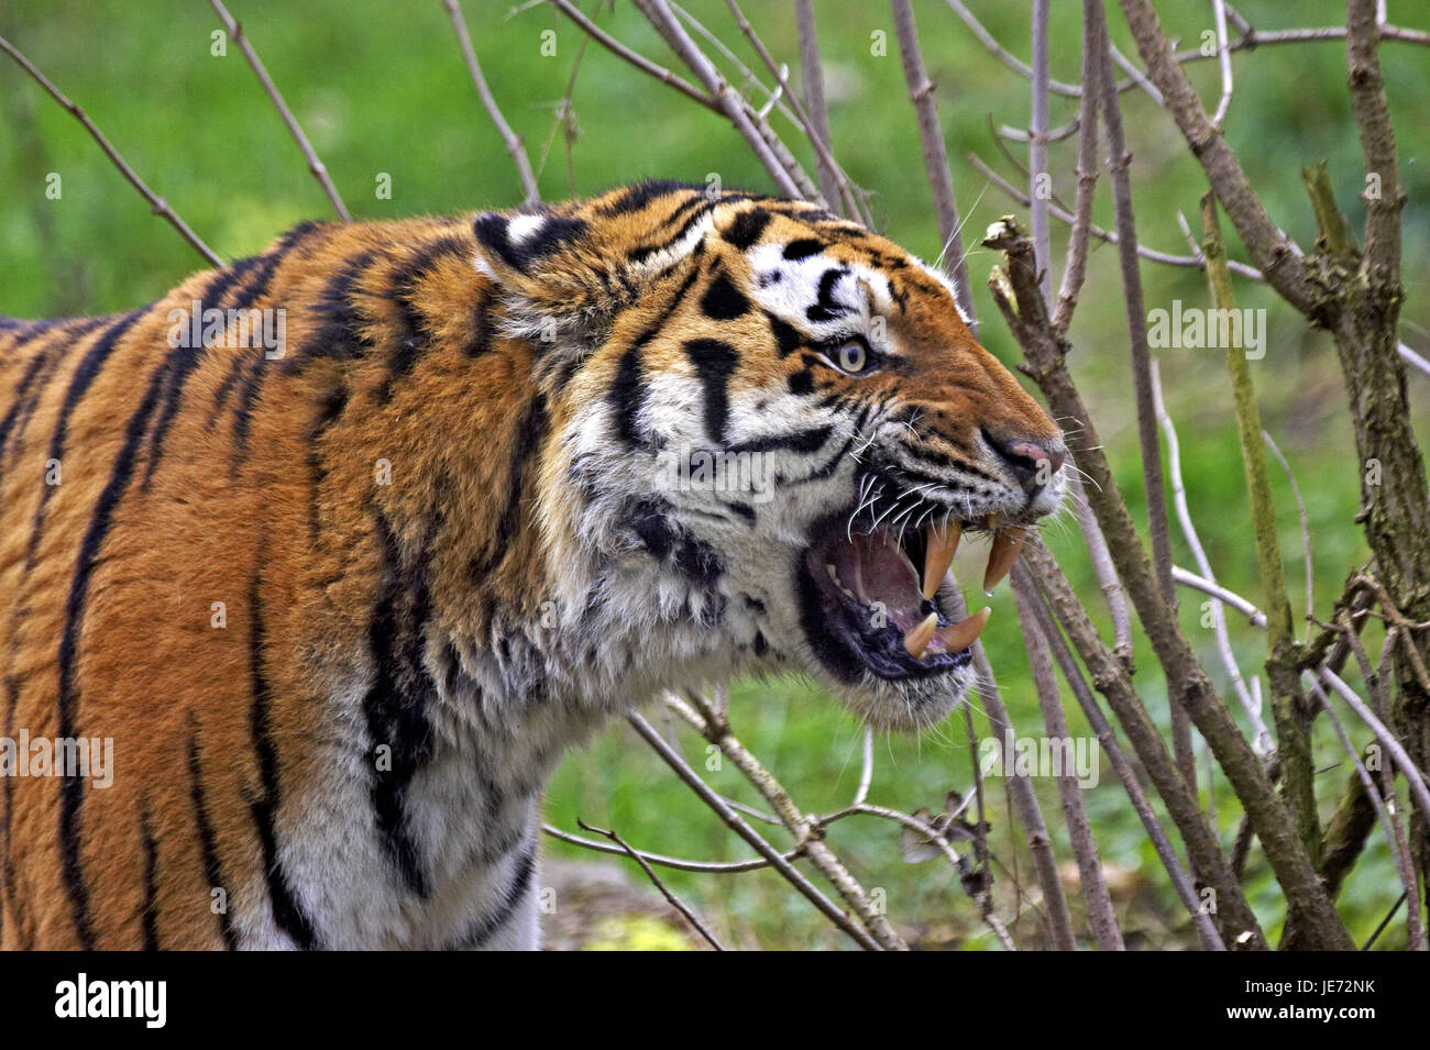
<path id="1" fill-rule="evenodd" d="M 588 13 L 593 6 L 593 0 L 582 3 Z M 970 6 L 1010 50 L 1027 56 L 1027 4 L 975 0 Z M 761 69 L 721 0 L 691 0 L 688 7 L 742 61 Z M 874 191 L 872 209 L 882 231 L 932 259 L 940 250 L 938 231 L 888 9 L 858 0 L 818 0 L 815 7 L 835 153 L 852 179 Z M 1164 1 L 1158 7 L 1168 31 L 1185 46 L 1195 44 L 1211 24 L 1207 4 Z M 573 111 L 558 126 L 559 103 L 582 51 L 583 34 L 553 9 L 538 3 L 513 10 L 502 0 L 466 0 L 463 9 L 492 89 L 508 120 L 525 136 L 532 163 L 542 166 L 545 197 L 593 193 L 642 176 L 702 181 L 711 173 L 725 186 L 771 189 L 728 124 L 595 46 L 581 60 Z M 302 4 L 233 0 L 230 10 L 245 24 L 355 217 L 459 213 L 519 201 L 512 164 L 478 104 L 439 0 Z M 1240 10 L 1258 29 L 1324 26 L 1344 19 L 1344 4 L 1337 0 L 1297 4 L 1246 0 Z M 774 54 L 789 61 L 791 77 L 798 83 L 792 7 L 749 0 L 745 13 Z M 1007 211 L 1021 214 L 1022 209 L 991 187 L 965 157 L 978 153 L 1012 181 L 1021 181 L 998 156 L 988 119 L 1027 126 L 1027 84 L 990 56 L 941 0 L 918 0 L 915 14 L 924 57 L 938 84 L 940 120 L 967 220 L 964 237 L 984 320 L 982 339 L 1011 364 L 1017 347 L 984 287 L 997 260 L 975 246 L 990 221 Z M 1430 9 L 1419 3 L 1391 0 L 1390 17 L 1399 24 L 1430 27 Z M 676 69 L 676 59 L 625 0 L 613 10 L 602 4 L 599 23 L 644 54 Z M 1114 41 L 1135 54 L 1115 10 L 1111 23 Z M 330 216 L 322 191 L 239 50 L 230 43 L 226 57 L 210 53 L 210 34 L 216 29 L 219 23 L 202 0 L 183 4 L 86 0 L 63 6 L 49 0 L 0 0 L 0 34 L 89 111 L 134 170 L 214 250 L 237 257 L 259 250 L 300 219 Z M 877 33 L 885 34 L 885 54 L 874 53 Z M 1080 4 L 1054 0 L 1054 77 L 1078 79 L 1078 36 Z M 1410 346 L 1426 351 L 1430 301 L 1421 293 L 1430 263 L 1430 210 L 1424 207 L 1430 191 L 1426 154 L 1430 114 L 1423 100 L 1430 97 L 1430 56 L 1424 49 L 1387 43 L 1383 61 L 1401 176 L 1410 196 L 1404 213 L 1409 297 L 1401 334 Z M 731 69 L 728 63 L 725 69 Z M 1197 63 L 1193 77 L 1203 99 L 1214 106 L 1216 63 Z M 1363 220 L 1358 200 L 1363 173 L 1344 81 L 1344 47 L 1336 41 L 1263 47 L 1236 57 L 1237 93 L 1227 136 L 1273 219 L 1306 247 L 1313 243 L 1314 230 L 1300 181 L 1304 164 L 1327 159 L 1341 207 L 1356 229 Z M 1123 104 L 1133 149 L 1140 237 L 1148 246 L 1184 254 L 1177 211 L 1195 221 L 1197 199 L 1205 190 L 1201 171 L 1170 119 L 1145 96 L 1127 93 Z M 1074 113 L 1075 100 L 1054 96 L 1054 126 Z M 799 149 L 794 131 L 778 117 L 774 121 L 812 173 L 809 150 Z M 1074 194 L 1074 160 L 1075 140 L 1052 146 L 1054 191 L 1068 201 Z M 46 197 L 50 173 L 63 180 L 59 200 Z M 390 200 L 378 199 L 375 191 L 383 174 L 390 176 Z M 1105 177 L 1098 189 L 1094 219 L 1111 227 Z M 1062 243 L 1064 229 L 1054 221 L 1058 264 Z M 79 123 L 13 63 L 3 60 L 0 244 L 0 313 L 16 316 L 127 309 L 157 297 L 200 266 L 192 249 L 149 214 Z M 1244 259 L 1238 246 L 1233 246 L 1233 256 Z M 1205 303 L 1204 279 L 1195 270 L 1144 263 L 1143 279 L 1148 309 L 1170 309 L 1175 299 L 1188 306 Z M 1297 471 L 1306 497 L 1317 570 L 1316 609 L 1324 616 L 1347 571 L 1367 557 L 1353 523 L 1357 463 L 1334 349 L 1264 287 L 1238 279 L 1236 290 L 1241 306 L 1267 310 L 1268 349 L 1263 360 L 1253 363 L 1253 376 L 1264 424 Z M 1094 243 L 1071 331 L 1072 367 L 1094 409 L 1123 491 L 1141 520 L 1124 326 L 1115 250 Z M 1158 356 L 1167 403 L 1180 429 L 1183 470 L 1201 539 L 1223 583 L 1254 597 L 1254 553 L 1221 353 L 1167 350 Z M 1416 423 L 1424 434 L 1430 423 L 1430 380 L 1411 374 L 1409 381 Z M 1297 513 L 1284 476 L 1274 466 L 1271 470 L 1291 601 L 1303 610 Z M 1105 624 L 1071 517 L 1054 521 L 1048 539 Z M 1180 536 L 1174 536 L 1174 550 L 1178 564 L 1193 564 Z M 960 557 L 968 579 L 975 579 L 972 566 L 981 557 L 980 550 Z M 992 599 L 992 606 L 994 619 L 984 640 L 1004 700 L 1021 734 L 1041 734 L 1007 587 Z M 1224 686 L 1213 633 L 1201 627 L 1198 594 L 1181 594 L 1181 616 L 1214 680 Z M 1264 656 L 1263 639 L 1244 621 L 1238 623 L 1238 617 L 1228 620 L 1243 670 L 1257 671 Z M 1138 667 L 1143 696 L 1165 724 L 1164 684 L 1145 649 L 1140 651 Z M 1356 677 L 1351 681 L 1358 684 Z M 1236 709 L 1230 690 L 1227 699 Z M 819 689 L 792 679 L 741 683 L 734 689 L 732 717 L 736 733 L 785 780 L 807 810 L 838 809 L 852 794 L 859 770 L 859 730 Z M 1318 794 L 1328 813 L 1348 767 L 1324 721 L 1318 723 L 1317 739 L 1323 770 Z M 1072 731 L 1087 731 L 1080 717 L 1072 719 Z M 988 733 L 981 710 L 975 733 L 980 737 Z M 701 741 L 685 733 L 681 739 L 692 761 L 704 769 Z M 1360 731 L 1356 739 L 1364 743 L 1367 734 Z M 755 801 L 729 763 L 706 776 L 731 797 Z M 872 801 L 909 810 L 938 809 L 947 790 L 967 790 L 970 784 L 961 717 L 919 739 L 877 740 Z M 1041 934 L 1031 910 L 1037 886 L 1027 847 L 1000 786 L 994 783 L 992 789 L 988 817 L 1000 863 L 995 869 L 1000 909 L 1012 916 L 1021 904 L 1021 917 L 1010 926 L 1025 943 L 1035 944 Z M 1058 856 L 1070 861 L 1054 786 L 1041 780 L 1038 790 Z M 1087 791 L 1085 799 L 1130 944 L 1193 946 L 1167 879 L 1105 763 L 1101 784 Z M 1220 776 L 1211 784 L 1203 783 L 1203 800 L 1216 810 L 1230 846 L 1240 810 Z M 548 793 L 546 813 L 551 821 L 568 829 L 575 827 L 578 816 L 613 826 L 631 843 L 656 851 L 712 860 L 746 856 L 623 723 L 568 757 Z M 778 831 L 772 833 L 776 841 L 784 841 Z M 947 866 L 899 860 L 892 824 L 869 819 L 841 821 L 832 827 L 829 840 L 851 859 L 865 886 L 884 891 L 894 921 L 919 944 L 995 947 Z M 549 849 L 589 856 L 558 844 Z M 728 943 L 785 949 L 848 944 L 769 873 L 669 873 L 668 880 L 712 919 Z M 1258 850 L 1251 853 L 1247 886 L 1263 923 L 1276 933 L 1283 901 Z M 1397 896 L 1389 851 L 1377 830 L 1341 894 L 1353 936 L 1369 936 Z M 1081 920 L 1075 891 L 1072 907 Z M 1403 934 L 1391 929 L 1380 946 L 1401 943 Z"/>

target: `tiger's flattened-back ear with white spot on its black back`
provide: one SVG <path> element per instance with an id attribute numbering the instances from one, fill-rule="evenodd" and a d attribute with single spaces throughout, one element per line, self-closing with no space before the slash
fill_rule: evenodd
<path id="1" fill-rule="evenodd" d="M 548 340 L 555 330 L 589 346 L 652 280 L 696 249 L 709 229 L 708 210 L 704 219 L 662 240 L 659 227 L 598 207 L 486 211 L 472 223 L 476 269 L 498 286 L 519 329 Z"/>

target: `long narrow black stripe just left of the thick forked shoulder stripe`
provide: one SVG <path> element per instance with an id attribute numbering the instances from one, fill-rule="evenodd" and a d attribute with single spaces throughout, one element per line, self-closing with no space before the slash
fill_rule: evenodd
<path id="1" fill-rule="evenodd" d="M 257 553 L 257 564 L 263 564 L 262 544 Z M 249 709 L 249 724 L 253 731 L 253 750 L 259 759 L 259 780 L 262 796 L 249 801 L 253 813 L 253 824 L 259 834 L 259 847 L 263 850 L 263 871 L 267 876 L 269 901 L 273 907 L 273 921 L 300 949 L 317 947 L 317 934 L 313 923 L 303 911 L 302 903 L 293 896 L 287 884 L 287 871 L 277 856 L 277 829 L 273 819 L 277 814 L 280 801 L 277 747 L 269 731 L 269 714 L 273 706 L 273 690 L 267 681 L 267 671 L 263 667 L 263 649 L 266 633 L 263 629 L 263 604 L 259 593 L 259 574 L 253 573 L 249 584 L 249 680 L 253 693 L 253 706 Z"/>

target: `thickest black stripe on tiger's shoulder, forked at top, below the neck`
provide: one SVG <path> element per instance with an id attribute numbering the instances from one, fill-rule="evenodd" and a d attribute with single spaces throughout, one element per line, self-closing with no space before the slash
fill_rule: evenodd
<path id="1" fill-rule="evenodd" d="M 436 700 L 436 683 L 423 657 L 432 614 L 428 576 L 440 519 L 433 517 L 429 523 L 422 549 L 410 564 L 405 564 L 402 544 L 388 520 L 380 513 L 373 519 L 382 547 L 382 583 L 368 631 L 373 680 L 363 697 L 372 749 L 368 757 L 373 763 L 373 820 L 383 851 L 408 890 L 426 897 L 432 887 L 408 826 L 405 799 L 412 779 L 432 757 L 428 704 Z M 386 770 L 379 763 L 376 749 L 380 746 L 390 754 Z"/>

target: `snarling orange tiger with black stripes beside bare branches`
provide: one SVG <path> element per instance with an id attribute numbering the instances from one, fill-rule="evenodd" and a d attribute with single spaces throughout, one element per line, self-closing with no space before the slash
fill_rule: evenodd
<path id="1" fill-rule="evenodd" d="M 1067 474 L 940 270 L 659 180 L 4 317 L 0 391 L 6 949 L 538 947 L 566 749 L 779 673 L 934 726 L 960 537 Z"/>

